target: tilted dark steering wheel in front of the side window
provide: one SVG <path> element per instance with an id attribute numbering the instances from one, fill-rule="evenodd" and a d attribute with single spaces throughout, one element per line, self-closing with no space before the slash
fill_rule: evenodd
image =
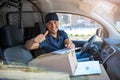
<path id="1" fill-rule="evenodd" d="M 83 55 L 84 52 L 89 48 L 89 46 L 95 41 L 96 35 L 93 35 L 80 49 L 80 55 Z"/>

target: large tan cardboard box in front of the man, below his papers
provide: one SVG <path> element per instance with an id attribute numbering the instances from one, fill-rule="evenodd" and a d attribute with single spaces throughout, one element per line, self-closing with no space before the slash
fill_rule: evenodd
<path id="1" fill-rule="evenodd" d="M 28 63 L 29 66 L 45 67 L 69 74 L 74 74 L 77 64 L 75 50 L 64 54 L 44 54 Z"/>

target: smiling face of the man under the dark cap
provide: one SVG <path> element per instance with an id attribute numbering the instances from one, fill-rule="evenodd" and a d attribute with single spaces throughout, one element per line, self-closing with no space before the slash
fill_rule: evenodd
<path id="1" fill-rule="evenodd" d="M 51 20 L 46 23 L 47 29 L 50 33 L 56 34 L 58 31 L 58 21 L 56 20 Z"/>

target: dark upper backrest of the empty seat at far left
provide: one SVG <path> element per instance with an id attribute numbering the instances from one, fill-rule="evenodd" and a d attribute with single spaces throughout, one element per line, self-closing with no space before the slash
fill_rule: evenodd
<path id="1" fill-rule="evenodd" d="M 14 25 L 4 25 L 0 28 L 0 44 L 2 47 L 12 47 L 23 43 L 22 30 Z"/>

